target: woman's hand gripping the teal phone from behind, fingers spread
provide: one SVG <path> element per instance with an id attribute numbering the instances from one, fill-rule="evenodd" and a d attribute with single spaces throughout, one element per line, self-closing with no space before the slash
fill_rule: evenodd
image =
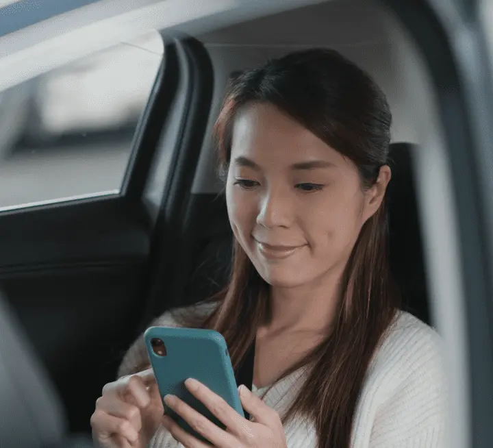
<path id="1" fill-rule="evenodd" d="M 204 436 L 216 448 L 249 448 L 268 447 L 286 448 L 286 436 L 279 414 L 269 408 L 264 401 L 251 393 L 249 389 L 240 386 L 240 399 L 243 408 L 255 419 L 255 422 L 244 419 L 236 410 L 233 410 L 226 401 L 212 392 L 209 388 L 194 379 L 187 379 L 186 387 L 190 393 L 199 399 L 223 422 L 227 430 L 221 430 L 209 419 L 190 408 L 179 398 L 168 395 L 166 405 L 179 414 L 193 430 Z M 164 417 L 163 425 L 171 435 L 186 448 L 209 448 L 188 432 L 184 431 L 168 416 Z"/>

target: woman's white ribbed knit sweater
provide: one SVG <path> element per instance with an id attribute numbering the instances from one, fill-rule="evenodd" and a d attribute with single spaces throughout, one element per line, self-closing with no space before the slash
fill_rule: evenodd
<path id="1" fill-rule="evenodd" d="M 177 323 L 166 312 L 151 325 Z M 134 373 L 145 362 L 148 358 L 140 337 L 125 354 L 118 375 Z M 304 373 L 301 369 L 277 382 L 264 397 L 266 404 L 282 415 L 296 397 Z M 262 396 L 266 389 L 253 386 L 253 393 Z M 412 314 L 399 312 L 366 374 L 354 416 L 351 448 L 446 447 L 446 397 L 440 336 Z M 284 430 L 288 448 L 317 447 L 312 422 L 295 419 Z M 160 427 L 149 447 L 183 445 Z"/>

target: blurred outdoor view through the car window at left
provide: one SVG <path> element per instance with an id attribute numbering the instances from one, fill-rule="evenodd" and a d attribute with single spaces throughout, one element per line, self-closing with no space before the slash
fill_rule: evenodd
<path id="1" fill-rule="evenodd" d="M 0 92 L 0 210 L 118 192 L 163 51 L 155 33 Z"/>

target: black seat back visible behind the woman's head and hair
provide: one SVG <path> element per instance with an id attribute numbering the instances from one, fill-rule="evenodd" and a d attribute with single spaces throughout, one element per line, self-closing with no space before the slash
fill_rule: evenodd
<path id="1" fill-rule="evenodd" d="M 390 146 L 392 180 L 388 186 L 390 267 L 403 297 L 403 308 L 429 323 L 428 293 L 412 175 L 412 145 Z M 221 216 L 210 225 L 213 235 L 197 260 L 184 297 L 194 303 L 227 284 L 231 266 L 231 230 L 223 199 Z M 218 230 L 219 228 L 219 230 Z M 207 231 L 206 231 L 207 232 Z"/>

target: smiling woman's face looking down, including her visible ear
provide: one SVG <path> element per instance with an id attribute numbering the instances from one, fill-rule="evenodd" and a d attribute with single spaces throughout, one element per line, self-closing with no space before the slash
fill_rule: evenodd
<path id="1" fill-rule="evenodd" d="M 363 190 L 357 167 L 266 103 L 233 126 L 227 209 L 233 233 L 273 286 L 300 286 L 340 272 L 385 193 L 390 169 Z"/>

